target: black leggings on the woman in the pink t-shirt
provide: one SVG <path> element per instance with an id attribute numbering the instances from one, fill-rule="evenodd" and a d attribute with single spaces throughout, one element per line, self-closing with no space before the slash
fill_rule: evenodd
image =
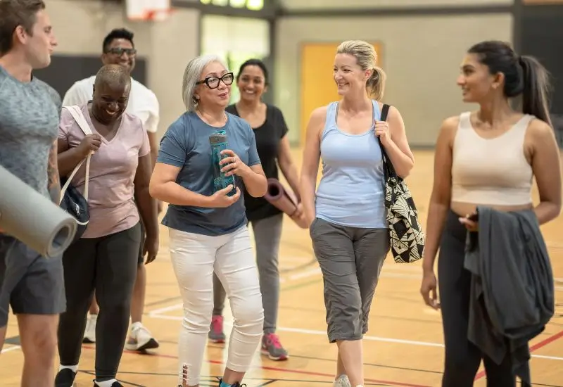
<path id="1" fill-rule="evenodd" d="M 140 224 L 101 238 L 83 238 L 63 255 L 66 312 L 58 324 L 61 365 L 77 365 L 88 308 L 96 290 L 96 380 L 115 379 L 127 328 L 137 260 Z"/>

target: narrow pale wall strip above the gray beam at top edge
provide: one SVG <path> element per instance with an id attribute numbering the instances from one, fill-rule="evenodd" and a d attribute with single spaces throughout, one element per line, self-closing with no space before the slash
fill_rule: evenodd
<path id="1" fill-rule="evenodd" d="M 280 0 L 284 8 L 297 11 L 303 9 L 342 8 L 421 8 L 440 6 L 493 6 L 512 4 L 514 0 Z"/>

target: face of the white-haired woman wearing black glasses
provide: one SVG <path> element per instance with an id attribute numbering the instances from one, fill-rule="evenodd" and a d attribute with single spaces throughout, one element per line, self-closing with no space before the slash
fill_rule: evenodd
<path id="1" fill-rule="evenodd" d="M 230 75 L 229 75 L 230 74 Z M 203 68 L 194 95 L 198 106 L 221 106 L 226 108 L 231 97 L 232 73 L 229 73 L 220 62 L 210 62 Z"/>

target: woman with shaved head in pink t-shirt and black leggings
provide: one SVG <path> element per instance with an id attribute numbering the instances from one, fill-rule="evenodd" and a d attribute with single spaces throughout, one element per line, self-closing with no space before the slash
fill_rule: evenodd
<path id="1" fill-rule="evenodd" d="M 63 108 L 61 114 L 61 177 L 68 176 L 80 161 L 93 154 L 89 167 L 89 224 L 63 255 L 67 310 L 58 326 L 61 367 L 57 386 L 72 386 L 74 382 L 94 290 L 100 306 L 94 382 L 96 386 L 121 386 L 115 375 L 129 325 L 142 240 L 141 220 L 146 229 L 147 262 L 154 260 L 158 251 L 156 200 L 148 194 L 150 146 L 141 120 L 125 113 L 130 88 L 125 68 L 103 66 L 96 75 L 93 100 L 78 106 L 92 134 L 84 134 L 68 108 Z M 81 193 L 85 165 L 72 178 L 72 185 Z"/>

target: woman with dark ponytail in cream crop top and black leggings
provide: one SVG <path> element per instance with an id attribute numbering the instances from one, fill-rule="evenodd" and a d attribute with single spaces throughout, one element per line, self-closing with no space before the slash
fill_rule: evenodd
<path id="1" fill-rule="evenodd" d="M 462 62 L 457 84 L 463 101 L 479 104 L 479 110 L 446 119 L 436 141 L 420 289 L 426 305 L 441 310 L 442 387 L 473 386 L 481 360 L 492 386 L 516 386 L 510 351 L 499 363 L 468 339 L 468 332 L 482 327 L 468 318 L 472 274 L 464 267 L 464 256 L 468 232 L 479 232 L 477 206 L 533 210 L 540 224 L 559 215 L 559 147 L 547 108 L 546 79 L 536 59 L 517 55 L 504 42 L 475 44 Z M 520 95 L 524 114 L 513 110 L 509 102 Z M 535 207 L 534 177 L 540 198 Z M 479 243 L 477 238 L 472 240 Z M 439 303 L 434 274 L 438 248 Z M 498 259 L 506 258 L 499 254 Z M 525 361 L 523 367 L 528 367 Z"/>

